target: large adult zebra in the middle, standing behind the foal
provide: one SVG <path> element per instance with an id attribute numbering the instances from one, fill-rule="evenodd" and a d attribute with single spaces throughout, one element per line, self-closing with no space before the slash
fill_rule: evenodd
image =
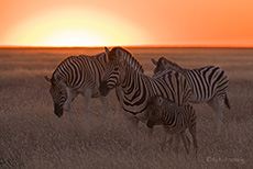
<path id="1" fill-rule="evenodd" d="M 144 75 L 143 67 L 133 55 L 122 47 L 106 49 L 108 64 L 99 90 L 107 95 L 110 90 L 121 87 L 122 108 L 133 137 L 138 135 L 139 122 L 145 123 L 147 101 L 158 94 L 169 98 L 178 105 L 187 102 L 191 90 L 184 76 L 176 71 L 166 71 L 154 78 Z"/>

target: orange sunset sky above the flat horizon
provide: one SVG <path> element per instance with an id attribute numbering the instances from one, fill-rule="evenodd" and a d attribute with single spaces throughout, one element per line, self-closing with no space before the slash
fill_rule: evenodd
<path id="1" fill-rule="evenodd" d="M 253 47 L 251 0 L 0 0 L 0 46 Z"/>

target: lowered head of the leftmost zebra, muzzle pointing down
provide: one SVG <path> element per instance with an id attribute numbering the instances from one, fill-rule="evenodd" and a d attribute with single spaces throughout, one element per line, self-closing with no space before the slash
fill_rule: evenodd
<path id="1" fill-rule="evenodd" d="M 44 78 L 51 83 L 50 92 L 54 101 L 54 112 L 61 117 L 63 115 L 64 103 L 67 100 L 65 86 L 58 76 L 56 76 L 56 78 L 54 76 L 52 78 L 45 76 Z"/>

